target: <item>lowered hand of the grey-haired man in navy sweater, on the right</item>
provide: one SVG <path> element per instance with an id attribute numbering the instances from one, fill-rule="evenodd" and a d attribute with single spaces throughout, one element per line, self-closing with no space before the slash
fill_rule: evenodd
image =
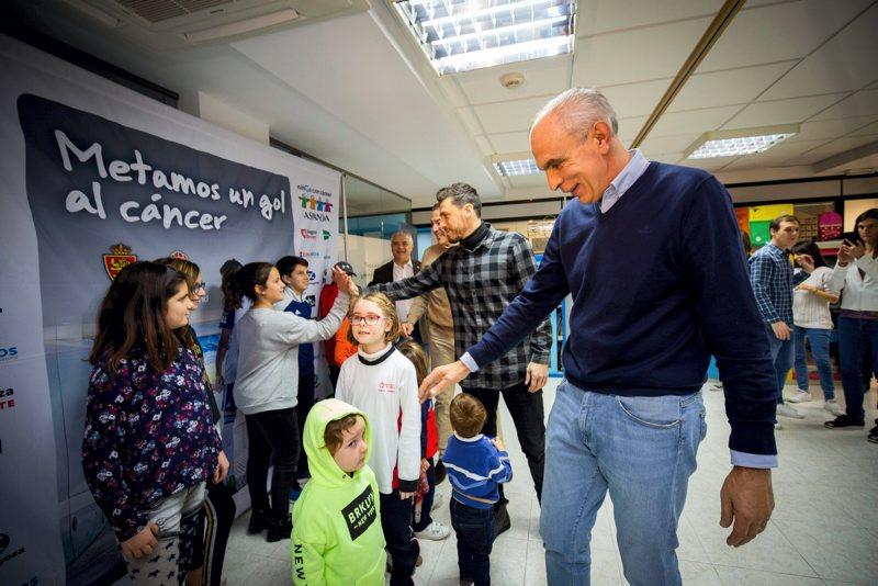
<path id="1" fill-rule="evenodd" d="M 770 469 L 734 466 L 720 489 L 720 527 L 732 525 L 725 543 L 740 548 L 765 531 L 775 508 Z"/>

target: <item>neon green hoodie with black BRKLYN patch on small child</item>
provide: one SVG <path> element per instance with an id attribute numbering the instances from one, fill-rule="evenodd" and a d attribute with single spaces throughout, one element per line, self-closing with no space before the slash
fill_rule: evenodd
<path id="1" fill-rule="evenodd" d="M 368 461 L 372 428 L 361 410 L 327 398 L 312 407 L 305 421 L 303 443 L 311 480 L 293 507 L 290 555 L 294 584 L 384 584 L 386 554 L 375 473 L 367 464 L 353 475 L 347 474 L 324 442 L 326 426 L 351 414 L 365 420 Z"/>

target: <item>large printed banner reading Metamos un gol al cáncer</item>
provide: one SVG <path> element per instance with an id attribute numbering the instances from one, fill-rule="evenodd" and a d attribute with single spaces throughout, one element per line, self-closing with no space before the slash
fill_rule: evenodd
<path id="1" fill-rule="evenodd" d="M 318 233 L 315 266 L 333 261 L 339 173 L 5 36 L 0 71 L 0 584 L 106 583 L 124 565 L 80 450 L 86 359 L 108 285 L 135 260 L 198 263 L 209 296 L 192 323 L 212 373 L 219 267 L 311 250 L 303 212 L 329 233 Z M 301 185 L 323 210 L 302 209 Z"/>

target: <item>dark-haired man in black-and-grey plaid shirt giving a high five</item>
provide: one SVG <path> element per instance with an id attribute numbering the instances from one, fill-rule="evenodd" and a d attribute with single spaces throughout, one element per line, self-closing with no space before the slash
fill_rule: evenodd
<path id="1" fill-rule="evenodd" d="M 460 246 L 450 248 L 414 277 L 373 285 L 367 291 L 380 291 L 396 301 L 443 286 L 454 320 L 454 350 L 461 356 L 494 325 L 537 272 L 537 263 L 524 236 L 496 230 L 482 222 L 482 203 L 471 185 L 453 183 L 440 189 L 436 199 L 440 202 L 439 215 L 448 240 Z M 486 436 L 496 435 L 497 402 L 503 394 L 528 459 L 538 498 L 542 494 L 545 441 L 542 387 L 548 380 L 551 335 L 551 325 L 544 319 L 511 351 L 460 383 L 485 405 Z M 508 528 L 505 503 L 500 496 L 498 532 Z"/>

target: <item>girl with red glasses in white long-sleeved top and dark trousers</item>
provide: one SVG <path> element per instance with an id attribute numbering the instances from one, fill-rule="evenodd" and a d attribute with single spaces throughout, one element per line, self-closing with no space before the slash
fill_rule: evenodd
<path id="1" fill-rule="evenodd" d="M 378 478 L 381 526 L 393 565 L 391 585 L 412 584 L 420 549 L 412 529 L 421 455 L 417 372 L 393 346 L 399 338 L 399 317 L 386 295 L 360 297 L 350 325 L 351 342 L 360 348 L 341 364 L 336 398 L 369 417 L 369 467 Z"/>

